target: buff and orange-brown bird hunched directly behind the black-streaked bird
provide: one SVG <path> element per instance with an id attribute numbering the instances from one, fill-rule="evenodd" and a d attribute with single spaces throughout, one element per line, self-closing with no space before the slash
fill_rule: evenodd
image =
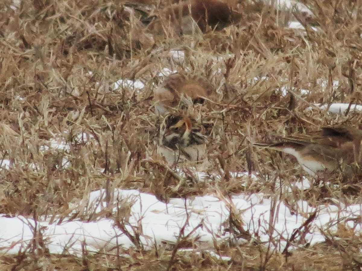
<path id="1" fill-rule="evenodd" d="M 203 103 L 209 96 L 213 87 L 209 81 L 202 77 L 194 77 L 174 73 L 169 75 L 165 81 L 153 90 L 153 102 L 157 115 L 171 113 L 171 108 L 177 107 L 180 102 L 191 106 L 191 104 Z M 188 101 L 191 99 L 191 102 Z"/>

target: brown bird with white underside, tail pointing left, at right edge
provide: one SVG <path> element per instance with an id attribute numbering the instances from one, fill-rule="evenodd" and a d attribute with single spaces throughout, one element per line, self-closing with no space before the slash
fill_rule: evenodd
<path id="1" fill-rule="evenodd" d="M 304 171 L 317 172 L 340 170 L 352 174 L 353 163 L 362 165 L 362 130 L 347 126 L 323 127 L 319 137 L 290 137 L 282 142 L 254 144 L 293 155 Z"/>

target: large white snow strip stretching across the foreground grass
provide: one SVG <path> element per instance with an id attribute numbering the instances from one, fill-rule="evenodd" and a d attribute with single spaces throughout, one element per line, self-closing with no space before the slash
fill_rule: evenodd
<path id="1" fill-rule="evenodd" d="M 258 237 L 261 242 L 268 243 L 270 238 L 274 238 L 279 250 L 285 248 L 286 240 L 315 210 L 318 210 L 317 217 L 312 221 L 306 236 L 306 241 L 311 245 L 325 240 L 323 230 L 337 231 L 337 221 L 345 221 L 348 227 L 362 231 L 361 224 L 351 219 L 361 215 L 361 205 L 312 207 L 305 201 L 299 201 L 295 206 L 297 210 L 291 211 L 282 201 L 266 198 L 262 193 L 241 193 L 228 199 L 210 194 L 188 199 L 172 198 L 164 203 L 154 195 L 122 189 L 115 189 L 111 198 L 113 207 L 110 211 L 113 214 L 117 214 L 117 210 L 123 210 L 121 213 L 125 214 L 129 212 L 129 216 L 122 217 L 120 223 L 131 235 L 140 233 L 140 245 L 144 249 L 152 249 L 155 242 L 176 242 L 182 227 L 184 236 L 193 231 L 190 238 L 198 237 L 196 243 L 205 249 L 212 249 L 214 241 L 220 243 L 234 239 L 225 226 L 230 208 L 234 210 L 234 216 L 239 216 L 245 231 L 254 238 Z M 276 208 L 271 208 L 273 205 Z M 107 209 L 105 190 L 91 192 L 87 204 L 79 202 L 75 210 L 80 206 L 87 206 L 85 209 L 94 214 Z M 271 210 L 275 212 L 272 213 Z M 24 249 L 33 238 L 34 227 L 33 219 L 0 216 L 1 250 L 16 254 Z M 50 222 L 50 219 L 44 218 L 37 221 L 37 229 L 39 228 L 43 238 L 48 241 L 50 253 L 63 253 L 66 250 L 80 255 L 82 243 L 94 252 L 117 245 L 124 249 L 135 247 L 130 238 L 117 227 L 113 218 L 98 218 L 89 222 L 67 219 Z M 242 238 L 236 241 L 247 242 Z"/>

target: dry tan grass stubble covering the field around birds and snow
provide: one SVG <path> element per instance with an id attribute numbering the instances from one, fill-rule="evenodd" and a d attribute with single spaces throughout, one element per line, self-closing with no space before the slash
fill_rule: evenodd
<path id="1" fill-rule="evenodd" d="M 154 2 L 155 7 L 166 5 Z M 2 1 L 0 148 L 1 158 L 12 165 L 0 171 L 1 213 L 65 218 L 72 202 L 106 186 L 136 188 L 165 201 L 221 190 L 223 195 L 264 192 L 280 196 L 289 206 L 299 199 L 318 205 L 327 197 L 361 202 L 359 183 L 353 195 L 329 187 L 281 194 L 275 181 L 288 185 L 303 172 L 288 156 L 256 150 L 251 143 L 330 124 L 361 123 L 359 112 L 330 115 L 305 109 L 315 102 L 362 103 L 362 5 L 303 1 L 315 14 L 296 14 L 307 28 L 303 35 L 285 27 L 293 17 L 290 12 L 246 2 L 238 25 L 180 37 L 171 29 L 163 29 L 163 35 L 147 32 L 118 1 L 21 0 L 16 10 L 10 8 L 12 1 Z M 312 31 L 311 24 L 319 30 Z M 181 63 L 168 55 L 175 48 L 186 52 Z M 157 77 L 163 67 L 187 69 L 214 85 L 210 101 L 190 114 L 213 124 L 207 159 L 196 167 L 210 175 L 220 173 L 220 180 L 198 182 L 187 163 L 180 167 L 188 177 L 181 178 L 155 155 L 162 120 L 154 114 L 151 96 L 154 83 L 163 81 Z M 140 79 L 145 87 L 113 91 L 111 84 L 119 78 Z M 333 87 L 333 81 L 340 85 Z M 286 96 L 281 95 L 282 86 L 290 89 Z M 299 94 L 300 89 L 310 90 L 310 95 Z M 77 138 L 81 133 L 92 139 L 86 143 Z M 42 150 L 50 139 L 63 140 L 70 148 Z M 248 181 L 232 178 L 233 171 L 261 174 L 258 181 Z M 72 219 L 89 221 L 102 215 L 109 214 L 78 212 Z M 39 241 L 36 249 L 2 256 L 1 269 L 359 270 L 360 241 L 347 229 L 343 233 L 325 233 L 325 244 L 306 244 L 291 255 L 257 240 L 215 247 L 232 257 L 229 262 L 204 252 L 177 252 L 175 244 L 118 254 L 84 251 L 83 258 L 66 252 L 49 255 Z M 129 257 L 121 256 L 125 254 Z"/>

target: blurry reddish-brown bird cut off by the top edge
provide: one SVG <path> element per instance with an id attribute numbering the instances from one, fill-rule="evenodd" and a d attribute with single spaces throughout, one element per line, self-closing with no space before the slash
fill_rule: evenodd
<path id="1" fill-rule="evenodd" d="M 232 2 L 232 3 L 231 3 Z M 188 0 L 172 4 L 161 9 L 158 14 L 150 16 L 146 20 L 150 22 L 148 30 L 153 33 L 161 34 L 169 26 L 179 35 L 194 34 L 198 30 L 200 33 L 206 33 L 208 26 L 211 29 L 222 29 L 233 22 L 240 20 L 241 14 L 233 10 L 236 7 L 235 1 L 221 0 Z M 197 28 L 193 27 L 193 22 Z"/>

